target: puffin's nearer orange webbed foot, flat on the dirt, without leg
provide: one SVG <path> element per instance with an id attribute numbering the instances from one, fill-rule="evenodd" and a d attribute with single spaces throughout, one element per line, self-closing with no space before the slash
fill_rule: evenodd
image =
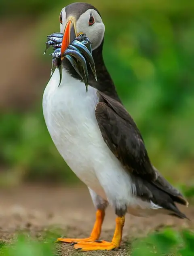
<path id="1" fill-rule="evenodd" d="M 113 250 L 118 246 L 112 242 L 107 241 L 94 241 L 94 242 L 78 242 L 74 248 L 79 251 L 97 251 L 97 250 Z"/>

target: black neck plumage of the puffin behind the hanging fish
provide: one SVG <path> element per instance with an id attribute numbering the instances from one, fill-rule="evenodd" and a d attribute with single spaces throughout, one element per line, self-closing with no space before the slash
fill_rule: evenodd
<path id="1" fill-rule="evenodd" d="M 99 45 L 99 47 L 95 50 L 93 50 L 92 55 L 95 62 L 96 72 L 97 72 L 97 81 L 95 80 L 95 77 L 91 71 L 91 68 L 89 67 L 89 63 L 87 63 L 88 66 L 88 73 L 89 73 L 89 85 L 96 88 L 97 90 L 106 93 L 110 97 L 116 99 L 120 102 L 120 99 L 118 97 L 118 94 L 116 92 L 116 88 L 114 85 L 114 82 L 105 66 L 104 60 L 103 60 L 103 42 Z M 86 61 L 87 62 L 87 61 Z M 82 81 L 82 78 L 78 75 L 76 70 L 72 67 L 71 63 L 65 58 L 63 59 L 63 68 L 67 70 L 67 72 L 74 78 Z"/>

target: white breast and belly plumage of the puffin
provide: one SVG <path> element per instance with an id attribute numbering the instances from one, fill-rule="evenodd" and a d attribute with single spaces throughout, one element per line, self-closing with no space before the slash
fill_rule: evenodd
<path id="1" fill-rule="evenodd" d="M 141 200 L 132 196 L 129 174 L 101 136 L 95 118 L 96 89 L 89 86 L 86 92 L 85 85 L 65 70 L 58 85 L 56 69 L 44 91 L 43 113 L 51 138 L 67 165 L 111 205 L 151 207 L 149 203 L 143 206 Z"/>

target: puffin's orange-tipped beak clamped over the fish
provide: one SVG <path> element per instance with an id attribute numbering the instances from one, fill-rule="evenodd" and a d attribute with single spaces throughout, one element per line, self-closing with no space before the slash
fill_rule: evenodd
<path id="1" fill-rule="evenodd" d="M 61 46 L 61 60 L 64 59 L 64 53 L 70 43 L 78 36 L 76 31 L 76 19 L 74 17 L 70 17 L 65 25 L 65 29 L 63 32 L 63 40 Z"/>

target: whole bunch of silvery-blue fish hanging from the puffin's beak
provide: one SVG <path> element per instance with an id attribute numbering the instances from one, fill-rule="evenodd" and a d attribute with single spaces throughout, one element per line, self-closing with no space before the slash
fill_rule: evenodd
<path id="1" fill-rule="evenodd" d="M 55 68 L 58 68 L 59 76 L 60 76 L 59 85 L 61 84 L 61 80 L 62 80 L 61 59 L 65 57 L 70 61 L 70 63 L 72 64 L 76 72 L 82 78 L 87 91 L 89 74 L 88 74 L 86 60 L 88 61 L 96 80 L 97 80 L 97 75 L 96 75 L 94 59 L 92 56 L 92 47 L 91 47 L 92 42 L 89 40 L 88 37 L 86 37 L 86 34 L 80 34 L 78 37 L 76 37 L 67 47 L 63 56 L 61 56 L 63 34 L 53 33 L 47 36 L 47 38 L 48 38 L 48 41 L 45 43 L 46 51 L 48 50 L 49 47 L 53 47 L 54 49 L 54 52 L 50 54 L 53 57 L 51 76 L 53 75 Z M 44 54 L 46 53 L 46 51 L 44 52 Z"/>

